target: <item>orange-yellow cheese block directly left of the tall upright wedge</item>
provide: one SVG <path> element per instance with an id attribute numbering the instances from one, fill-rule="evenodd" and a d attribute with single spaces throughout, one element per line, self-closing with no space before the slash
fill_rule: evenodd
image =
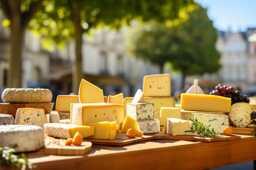
<path id="1" fill-rule="evenodd" d="M 71 103 L 79 103 L 79 97 L 75 95 L 58 95 L 55 110 L 57 112 L 70 112 Z"/>

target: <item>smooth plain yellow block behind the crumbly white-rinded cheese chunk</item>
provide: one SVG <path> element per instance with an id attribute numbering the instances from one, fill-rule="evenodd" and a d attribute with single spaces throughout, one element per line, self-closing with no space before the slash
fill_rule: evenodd
<path id="1" fill-rule="evenodd" d="M 164 126 L 166 118 L 180 119 L 180 108 L 162 107 L 160 113 L 160 126 Z"/>

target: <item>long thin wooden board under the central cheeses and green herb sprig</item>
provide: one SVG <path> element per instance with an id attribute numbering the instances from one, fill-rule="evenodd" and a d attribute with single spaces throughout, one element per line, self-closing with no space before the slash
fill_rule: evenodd
<path id="1" fill-rule="evenodd" d="M 235 140 L 240 139 L 240 135 L 231 135 L 226 136 L 222 135 L 223 138 L 207 138 L 202 137 L 197 134 L 191 133 L 191 135 L 178 135 L 178 136 L 172 136 L 168 135 L 164 132 L 155 133 L 155 134 L 145 134 L 143 136 L 136 136 L 135 138 L 129 138 L 126 136 L 125 133 L 117 132 L 115 135 L 114 140 L 106 140 L 106 139 L 89 139 L 88 141 L 92 142 L 92 144 L 96 145 L 115 145 L 115 146 L 121 146 L 121 145 L 127 145 L 130 143 L 135 142 L 141 142 L 145 140 L 151 140 L 151 139 L 177 139 L 177 140 L 194 140 L 194 141 L 202 141 L 202 142 L 214 142 L 214 141 L 222 141 L 222 140 Z"/>

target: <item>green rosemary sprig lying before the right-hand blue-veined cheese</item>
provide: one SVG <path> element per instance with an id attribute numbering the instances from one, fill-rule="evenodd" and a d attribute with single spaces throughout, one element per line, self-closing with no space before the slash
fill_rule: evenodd
<path id="1" fill-rule="evenodd" d="M 209 138 L 222 138 L 222 136 L 219 134 L 219 132 L 215 132 L 214 129 L 212 128 L 210 130 L 210 124 L 204 125 L 203 123 L 199 122 L 197 119 L 190 119 L 188 120 L 192 121 L 192 126 L 190 127 L 191 130 L 187 130 L 185 132 L 194 132 L 197 133 L 198 135 L 209 137 Z"/>

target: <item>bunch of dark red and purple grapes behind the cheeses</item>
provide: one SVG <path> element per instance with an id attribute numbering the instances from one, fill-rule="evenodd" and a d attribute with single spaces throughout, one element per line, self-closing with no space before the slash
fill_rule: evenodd
<path id="1" fill-rule="evenodd" d="M 210 95 L 217 95 L 217 96 L 223 96 L 223 97 L 229 97 L 231 98 L 231 104 L 238 103 L 238 102 L 246 102 L 249 103 L 250 99 L 247 98 L 246 95 L 240 94 L 240 91 L 235 90 L 232 86 L 226 86 L 219 84 L 215 87 L 215 90 L 212 90 L 210 92 Z"/>

